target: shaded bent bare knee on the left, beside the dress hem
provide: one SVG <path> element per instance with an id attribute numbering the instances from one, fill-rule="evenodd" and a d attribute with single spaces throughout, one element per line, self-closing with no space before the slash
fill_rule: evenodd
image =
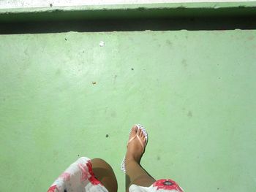
<path id="1" fill-rule="evenodd" d="M 112 167 L 101 158 L 94 158 L 91 160 L 92 171 L 95 177 L 99 180 L 109 192 L 117 191 L 116 175 Z"/>

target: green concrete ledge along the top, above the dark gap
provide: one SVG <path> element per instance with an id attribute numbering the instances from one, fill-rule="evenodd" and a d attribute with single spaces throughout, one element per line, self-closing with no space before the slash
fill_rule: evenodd
<path id="1" fill-rule="evenodd" d="M 127 4 L 83 7 L 0 9 L 0 22 L 108 20 L 186 17 L 250 17 L 256 2 Z"/>

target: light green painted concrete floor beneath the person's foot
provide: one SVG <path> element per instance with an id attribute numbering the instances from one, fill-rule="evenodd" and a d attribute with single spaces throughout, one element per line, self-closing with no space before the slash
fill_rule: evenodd
<path id="1" fill-rule="evenodd" d="M 148 130 L 142 164 L 156 179 L 189 192 L 255 191 L 255 30 L 0 42 L 0 191 L 47 191 L 83 155 L 108 161 L 124 191 L 134 123 Z"/>

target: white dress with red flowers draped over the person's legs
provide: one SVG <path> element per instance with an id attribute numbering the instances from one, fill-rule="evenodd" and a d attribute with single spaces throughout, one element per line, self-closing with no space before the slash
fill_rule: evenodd
<path id="1" fill-rule="evenodd" d="M 94 177 L 91 160 L 78 158 L 50 186 L 48 192 L 108 192 L 107 188 Z M 131 185 L 129 192 L 183 192 L 173 180 L 157 180 L 150 187 Z"/>

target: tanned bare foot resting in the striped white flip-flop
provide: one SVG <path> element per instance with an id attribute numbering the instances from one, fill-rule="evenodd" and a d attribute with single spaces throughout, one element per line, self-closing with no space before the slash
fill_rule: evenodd
<path id="1" fill-rule="evenodd" d="M 138 135 L 138 137 L 136 136 Z M 132 139 L 135 137 L 134 139 Z M 128 164 L 129 161 L 136 161 L 140 163 L 140 158 L 143 155 L 144 147 L 146 145 L 146 138 L 143 134 L 143 131 L 137 126 L 132 127 L 131 134 L 129 135 L 129 140 L 132 139 L 127 145 L 127 154 L 125 156 L 125 164 Z"/>

